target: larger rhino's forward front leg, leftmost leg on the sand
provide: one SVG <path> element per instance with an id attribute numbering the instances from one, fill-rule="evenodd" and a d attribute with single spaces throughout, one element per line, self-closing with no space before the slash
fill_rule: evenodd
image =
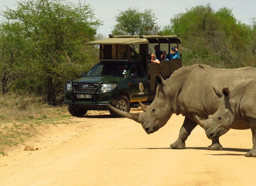
<path id="1" fill-rule="evenodd" d="M 196 127 L 196 125 L 197 123 L 195 121 L 189 120 L 187 117 L 185 117 L 178 139 L 170 146 L 174 149 L 186 148 L 185 141 L 190 135 L 191 131 Z"/>

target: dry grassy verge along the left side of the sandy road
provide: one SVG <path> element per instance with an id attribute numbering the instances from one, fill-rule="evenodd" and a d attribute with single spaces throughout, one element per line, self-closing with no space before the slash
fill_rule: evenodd
<path id="1" fill-rule="evenodd" d="M 7 155 L 6 149 L 34 136 L 39 125 L 56 124 L 70 116 L 66 106 L 49 106 L 34 95 L 0 95 L 0 154 Z"/>

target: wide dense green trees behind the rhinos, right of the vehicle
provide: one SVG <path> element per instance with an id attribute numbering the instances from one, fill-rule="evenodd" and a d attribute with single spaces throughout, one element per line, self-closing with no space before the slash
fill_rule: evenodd
<path id="1" fill-rule="evenodd" d="M 252 29 L 237 21 L 232 9 L 214 11 L 210 4 L 176 14 L 163 27 L 163 35 L 177 35 L 183 41 L 183 64 L 197 62 L 222 68 L 248 66 Z M 251 43 L 252 44 L 252 43 Z"/>

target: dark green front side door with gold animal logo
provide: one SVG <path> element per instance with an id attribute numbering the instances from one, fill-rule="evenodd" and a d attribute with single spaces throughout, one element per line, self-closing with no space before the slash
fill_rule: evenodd
<path id="1" fill-rule="evenodd" d="M 149 81 L 143 66 L 141 64 L 130 66 L 130 77 L 130 102 L 147 101 L 149 96 Z"/>

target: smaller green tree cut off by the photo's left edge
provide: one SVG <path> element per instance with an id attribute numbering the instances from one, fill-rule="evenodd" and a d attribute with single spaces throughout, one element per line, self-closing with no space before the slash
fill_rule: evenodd
<path id="1" fill-rule="evenodd" d="M 2 93 L 7 93 L 10 86 L 27 74 L 30 40 L 26 40 L 19 23 L 0 25 L 0 77 Z"/>

